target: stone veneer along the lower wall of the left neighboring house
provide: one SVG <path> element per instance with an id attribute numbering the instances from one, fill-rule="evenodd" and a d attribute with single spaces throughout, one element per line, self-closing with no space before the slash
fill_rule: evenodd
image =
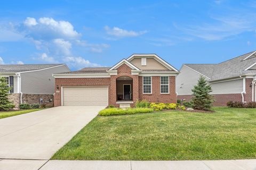
<path id="1" fill-rule="evenodd" d="M 53 106 L 53 95 L 43 95 L 43 94 L 22 94 L 22 103 L 29 103 L 29 104 L 40 104 L 40 98 L 43 99 L 43 103 L 46 106 Z M 52 100 L 52 101 L 50 101 Z"/>

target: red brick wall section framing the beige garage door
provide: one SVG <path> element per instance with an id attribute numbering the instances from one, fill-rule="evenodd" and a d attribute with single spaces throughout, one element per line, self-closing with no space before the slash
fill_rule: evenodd
<path id="1" fill-rule="evenodd" d="M 61 106 L 61 86 L 109 86 L 109 84 L 110 78 L 56 78 L 54 106 Z"/>

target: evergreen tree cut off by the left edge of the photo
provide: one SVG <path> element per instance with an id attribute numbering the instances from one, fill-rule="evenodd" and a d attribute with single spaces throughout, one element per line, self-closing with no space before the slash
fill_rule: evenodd
<path id="1" fill-rule="evenodd" d="M 0 111 L 1 110 L 8 110 L 10 107 L 12 107 L 12 103 L 9 101 L 8 96 L 9 90 L 12 89 L 12 87 L 8 87 L 8 84 L 6 84 L 5 78 L 0 78 Z"/>

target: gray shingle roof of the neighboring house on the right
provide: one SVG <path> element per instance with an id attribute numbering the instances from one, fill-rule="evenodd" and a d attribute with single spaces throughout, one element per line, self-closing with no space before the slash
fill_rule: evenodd
<path id="1" fill-rule="evenodd" d="M 225 78 L 236 77 L 242 74 L 256 74 L 256 70 L 247 70 L 247 67 L 256 63 L 256 56 L 250 56 L 254 52 L 250 52 L 219 64 L 185 64 L 193 70 L 209 77 L 211 81 Z"/>

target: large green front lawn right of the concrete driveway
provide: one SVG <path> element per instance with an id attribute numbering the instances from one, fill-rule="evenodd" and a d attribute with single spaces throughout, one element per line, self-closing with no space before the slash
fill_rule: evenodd
<path id="1" fill-rule="evenodd" d="M 52 159 L 214 160 L 256 158 L 256 109 L 214 108 L 97 116 Z"/>

